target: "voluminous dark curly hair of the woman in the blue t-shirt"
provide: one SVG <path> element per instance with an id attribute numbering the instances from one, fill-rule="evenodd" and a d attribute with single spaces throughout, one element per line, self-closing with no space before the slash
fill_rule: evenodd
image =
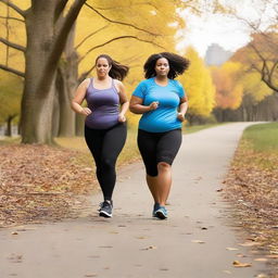
<path id="1" fill-rule="evenodd" d="M 148 58 L 148 60 L 143 65 L 144 77 L 147 79 L 156 76 L 155 64 L 156 64 L 156 61 L 161 58 L 165 58 L 169 63 L 169 73 L 168 73 L 169 79 L 175 79 L 178 75 L 184 74 L 184 72 L 190 65 L 189 60 L 175 53 L 161 52 L 157 54 L 152 54 Z"/>

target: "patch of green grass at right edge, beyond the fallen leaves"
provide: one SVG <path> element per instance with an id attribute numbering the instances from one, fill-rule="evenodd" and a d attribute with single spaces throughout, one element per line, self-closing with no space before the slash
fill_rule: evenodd
<path id="1" fill-rule="evenodd" d="M 250 126 L 243 139 L 252 143 L 254 151 L 278 152 L 278 122 Z"/>

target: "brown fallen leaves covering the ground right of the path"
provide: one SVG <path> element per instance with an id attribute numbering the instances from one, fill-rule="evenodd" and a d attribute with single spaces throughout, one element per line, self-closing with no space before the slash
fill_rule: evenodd
<path id="1" fill-rule="evenodd" d="M 252 235 L 252 240 L 241 245 L 264 248 L 269 254 L 278 254 L 277 165 L 277 152 L 266 156 L 266 153 L 252 151 L 243 140 L 225 180 L 225 198 L 237 207 L 238 223 Z"/>

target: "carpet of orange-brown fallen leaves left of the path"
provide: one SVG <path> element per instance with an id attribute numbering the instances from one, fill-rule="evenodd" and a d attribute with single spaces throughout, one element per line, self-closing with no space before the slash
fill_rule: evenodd
<path id="1" fill-rule="evenodd" d="M 92 169 L 76 151 L 2 146 L 0 156 L 0 226 L 74 215 L 92 190 Z"/>

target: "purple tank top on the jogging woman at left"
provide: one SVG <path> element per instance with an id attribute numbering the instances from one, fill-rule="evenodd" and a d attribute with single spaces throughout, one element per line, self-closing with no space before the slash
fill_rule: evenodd
<path id="1" fill-rule="evenodd" d="M 85 98 L 92 112 L 86 117 L 87 127 L 106 129 L 118 123 L 119 97 L 113 79 L 110 88 L 96 89 L 91 78 Z"/>

